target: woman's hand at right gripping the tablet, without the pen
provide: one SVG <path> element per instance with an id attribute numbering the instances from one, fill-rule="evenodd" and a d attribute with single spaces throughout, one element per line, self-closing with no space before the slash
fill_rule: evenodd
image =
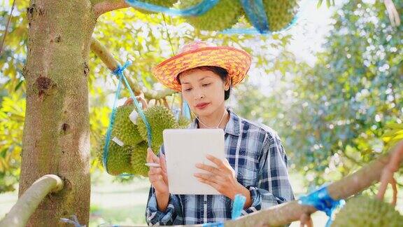
<path id="1" fill-rule="evenodd" d="M 236 194 L 245 194 L 248 191 L 236 181 L 235 171 L 229 165 L 228 160 L 220 160 L 214 156 L 207 156 L 216 166 L 197 163 L 196 167 L 206 170 L 208 173 L 196 173 L 195 177 L 204 184 L 208 184 L 215 188 L 222 195 L 234 200 Z M 248 191 L 249 194 L 249 191 Z M 250 194 L 248 195 L 250 198 Z M 247 197 L 247 198 L 248 198 Z M 247 199 L 248 200 L 248 199 Z"/>

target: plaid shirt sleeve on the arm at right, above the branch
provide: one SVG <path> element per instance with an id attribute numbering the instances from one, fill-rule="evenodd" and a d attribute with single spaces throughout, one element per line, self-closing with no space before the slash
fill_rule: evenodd
<path id="1" fill-rule="evenodd" d="M 243 210 L 242 214 L 295 199 L 288 178 L 288 159 L 279 138 L 268 137 L 264 144 L 259 179 L 257 186 L 246 187 L 250 191 L 252 205 Z"/>

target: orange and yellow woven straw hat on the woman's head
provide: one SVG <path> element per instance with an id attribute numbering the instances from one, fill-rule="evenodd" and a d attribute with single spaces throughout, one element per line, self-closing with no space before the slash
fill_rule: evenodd
<path id="1" fill-rule="evenodd" d="M 215 66 L 227 69 L 232 85 L 241 82 L 249 70 L 251 57 L 245 50 L 230 46 L 215 46 L 213 43 L 195 41 L 179 50 L 153 68 L 154 76 L 168 88 L 181 92 L 176 76 L 182 71 L 201 66 Z"/>

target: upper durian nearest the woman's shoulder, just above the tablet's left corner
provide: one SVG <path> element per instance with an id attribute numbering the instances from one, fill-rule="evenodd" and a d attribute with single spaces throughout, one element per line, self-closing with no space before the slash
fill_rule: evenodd
<path id="1" fill-rule="evenodd" d="M 165 106 L 151 106 L 144 111 L 151 128 L 152 144 L 151 149 L 154 152 L 160 149 L 162 145 L 162 131 L 169 128 L 178 128 L 178 123 L 175 121 L 174 114 Z M 143 140 L 148 141 L 147 128 L 142 118 L 137 118 L 137 128 Z"/>

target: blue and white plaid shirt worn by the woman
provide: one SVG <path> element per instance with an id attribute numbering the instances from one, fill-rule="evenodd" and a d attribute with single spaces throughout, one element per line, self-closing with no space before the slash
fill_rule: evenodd
<path id="1" fill-rule="evenodd" d="M 248 188 L 252 205 L 242 214 L 294 200 L 288 179 L 288 160 L 274 130 L 236 116 L 230 109 L 225 127 L 225 151 L 237 181 Z M 197 119 L 190 128 L 197 128 Z M 160 152 L 164 153 L 162 146 Z M 232 200 L 225 195 L 169 195 L 165 212 L 157 209 L 150 188 L 146 207 L 148 225 L 181 225 L 231 219 Z"/>

